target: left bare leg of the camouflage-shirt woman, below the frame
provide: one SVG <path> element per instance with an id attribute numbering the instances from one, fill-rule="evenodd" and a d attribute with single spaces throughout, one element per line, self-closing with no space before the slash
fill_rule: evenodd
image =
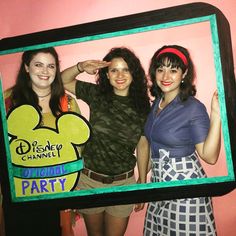
<path id="1" fill-rule="evenodd" d="M 88 236 L 104 236 L 104 212 L 91 215 L 83 214 L 83 218 Z"/>

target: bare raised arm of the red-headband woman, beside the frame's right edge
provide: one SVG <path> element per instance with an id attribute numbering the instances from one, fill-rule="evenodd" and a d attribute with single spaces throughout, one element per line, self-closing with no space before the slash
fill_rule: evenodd
<path id="1" fill-rule="evenodd" d="M 208 164 L 218 160 L 221 146 L 221 120 L 218 93 L 215 92 L 211 101 L 210 129 L 205 142 L 196 145 L 199 156 Z"/>

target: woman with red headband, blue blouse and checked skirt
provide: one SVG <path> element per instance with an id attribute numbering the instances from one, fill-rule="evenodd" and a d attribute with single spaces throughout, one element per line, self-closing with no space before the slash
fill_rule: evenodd
<path id="1" fill-rule="evenodd" d="M 215 164 L 220 151 L 221 120 L 217 92 L 210 119 L 194 96 L 194 70 L 188 51 L 164 46 L 152 57 L 149 75 L 155 97 L 145 125 L 151 146 L 151 182 L 205 178 L 199 158 Z M 144 235 L 216 235 L 209 197 L 151 202 Z"/>

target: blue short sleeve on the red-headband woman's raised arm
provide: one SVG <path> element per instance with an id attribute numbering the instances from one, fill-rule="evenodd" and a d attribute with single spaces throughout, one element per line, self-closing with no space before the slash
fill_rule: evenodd
<path id="1" fill-rule="evenodd" d="M 194 144 L 205 141 L 209 127 L 210 120 L 206 107 L 201 102 L 195 103 L 190 121 L 190 133 Z"/>

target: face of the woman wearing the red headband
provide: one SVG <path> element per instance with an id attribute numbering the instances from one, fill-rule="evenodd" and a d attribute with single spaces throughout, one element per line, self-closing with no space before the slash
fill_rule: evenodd
<path id="1" fill-rule="evenodd" d="M 173 68 L 171 65 L 160 66 L 156 69 L 156 82 L 162 92 L 173 97 L 180 92 L 180 84 L 187 71 L 183 74 L 181 68 Z"/>

